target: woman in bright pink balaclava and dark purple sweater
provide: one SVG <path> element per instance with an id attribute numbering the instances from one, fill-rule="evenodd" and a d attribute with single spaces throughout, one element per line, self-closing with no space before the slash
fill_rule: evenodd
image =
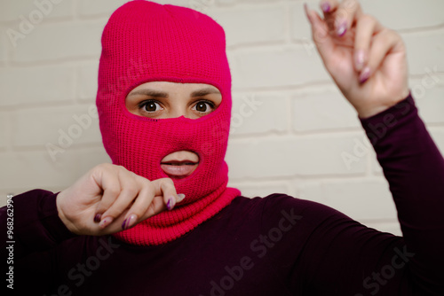
<path id="1" fill-rule="evenodd" d="M 227 188 L 224 31 L 199 12 L 134 1 L 102 36 L 97 105 L 114 164 L 12 199 L 14 292 L 442 294 L 444 160 L 409 96 L 404 45 L 355 1 L 321 7 L 323 19 L 305 7 L 314 43 L 375 147 L 402 238 L 327 206 Z"/>

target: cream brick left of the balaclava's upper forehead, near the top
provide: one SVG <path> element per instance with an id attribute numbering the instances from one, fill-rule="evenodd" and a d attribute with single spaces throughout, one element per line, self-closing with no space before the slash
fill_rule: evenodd
<path id="1" fill-rule="evenodd" d="M 36 62 L 62 58 L 99 58 L 100 38 L 106 20 L 42 24 L 13 51 L 14 62 Z"/>

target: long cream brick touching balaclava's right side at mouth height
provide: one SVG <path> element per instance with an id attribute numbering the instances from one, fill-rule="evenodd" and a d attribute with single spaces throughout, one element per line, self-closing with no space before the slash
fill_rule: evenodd
<path id="1" fill-rule="evenodd" d="M 231 140 L 226 160 L 233 181 L 287 176 L 363 174 L 367 157 L 347 167 L 343 153 L 353 149 L 353 137 L 274 136 Z"/>

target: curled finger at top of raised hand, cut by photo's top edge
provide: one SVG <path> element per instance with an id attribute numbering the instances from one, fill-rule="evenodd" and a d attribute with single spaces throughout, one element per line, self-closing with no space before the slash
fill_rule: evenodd
<path id="1" fill-rule="evenodd" d="M 337 11 L 333 13 L 336 34 L 345 35 L 361 15 L 361 4 L 357 0 L 345 0 L 339 4 Z"/>

